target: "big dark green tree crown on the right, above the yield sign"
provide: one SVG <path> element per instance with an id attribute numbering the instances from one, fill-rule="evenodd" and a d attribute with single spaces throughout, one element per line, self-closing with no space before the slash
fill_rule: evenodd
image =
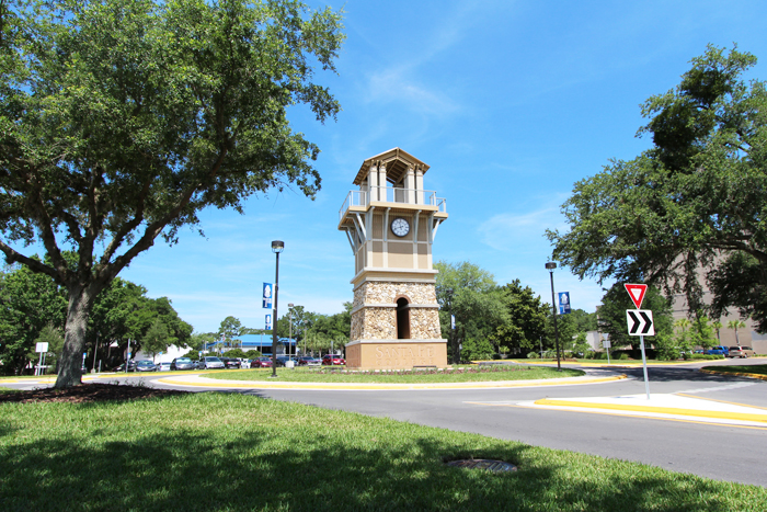
<path id="1" fill-rule="evenodd" d="M 729 306 L 767 329 L 767 92 L 743 75 L 756 58 L 709 46 L 674 90 L 650 98 L 640 134 L 654 147 L 577 182 L 571 229 L 548 231 L 553 257 L 581 276 L 644 280 L 713 317 Z"/>

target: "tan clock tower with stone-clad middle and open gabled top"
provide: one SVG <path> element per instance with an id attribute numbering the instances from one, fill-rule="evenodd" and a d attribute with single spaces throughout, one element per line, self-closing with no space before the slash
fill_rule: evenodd
<path id="1" fill-rule="evenodd" d="M 447 366 L 432 266 L 447 203 L 424 190 L 427 170 L 400 148 L 368 158 L 339 212 L 354 253 L 351 368 Z"/>

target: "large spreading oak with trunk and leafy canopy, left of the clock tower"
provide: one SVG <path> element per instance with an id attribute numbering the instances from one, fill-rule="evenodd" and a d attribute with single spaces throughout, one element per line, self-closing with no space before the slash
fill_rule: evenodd
<path id="1" fill-rule="evenodd" d="M 319 149 L 286 109 L 337 113 L 313 71 L 334 71 L 341 19 L 293 0 L 1 7 L 0 250 L 67 289 L 60 388 L 81 382 L 94 298 L 158 237 L 271 189 L 313 196 Z"/>

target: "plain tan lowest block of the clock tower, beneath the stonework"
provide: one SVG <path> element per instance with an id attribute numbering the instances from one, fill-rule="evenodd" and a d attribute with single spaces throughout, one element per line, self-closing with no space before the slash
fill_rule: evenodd
<path id="1" fill-rule="evenodd" d="M 447 340 L 356 340 L 346 344 L 350 369 L 447 366 Z"/>

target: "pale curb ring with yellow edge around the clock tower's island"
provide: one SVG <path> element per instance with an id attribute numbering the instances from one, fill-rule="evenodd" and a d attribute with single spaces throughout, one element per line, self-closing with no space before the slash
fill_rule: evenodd
<path id="1" fill-rule="evenodd" d="M 579 379 L 580 378 L 580 379 Z M 576 377 L 566 380 L 546 382 L 524 382 L 524 380 L 489 380 L 480 383 L 431 383 L 431 384 L 344 384 L 344 383 L 263 383 L 263 382 L 232 382 L 232 380 L 210 380 L 210 382 L 188 382 L 173 378 L 159 378 L 157 382 L 172 384 L 175 386 L 215 387 L 215 388 L 252 388 L 252 389 L 330 389 L 330 390 L 408 390 L 408 389 L 479 389 L 479 388 L 510 388 L 510 387 L 534 387 L 534 386 L 571 386 L 574 384 L 597 384 L 627 378 L 626 375 L 614 377 L 583 378 Z"/>

